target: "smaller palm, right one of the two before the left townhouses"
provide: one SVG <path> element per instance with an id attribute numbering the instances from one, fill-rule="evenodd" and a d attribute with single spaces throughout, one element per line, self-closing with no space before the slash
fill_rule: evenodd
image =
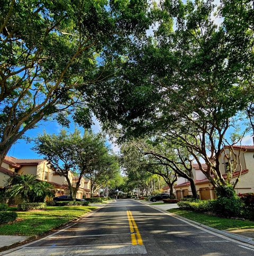
<path id="1" fill-rule="evenodd" d="M 53 186 L 47 181 L 38 181 L 34 184 L 34 201 L 44 202 L 46 198 L 51 198 L 54 196 Z"/>

